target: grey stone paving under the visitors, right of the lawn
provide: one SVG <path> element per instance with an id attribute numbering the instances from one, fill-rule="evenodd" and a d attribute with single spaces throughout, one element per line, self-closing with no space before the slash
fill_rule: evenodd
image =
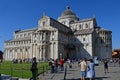
<path id="1" fill-rule="evenodd" d="M 111 64 L 109 73 L 105 74 L 103 64 L 100 64 L 99 66 L 95 66 L 95 72 L 95 80 L 120 80 L 120 67 L 118 65 L 114 67 L 114 64 Z M 44 76 L 40 75 L 38 80 L 64 80 L 64 71 L 53 74 L 47 72 Z M 77 63 L 73 64 L 72 68 L 67 69 L 66 80 L 80 80 L 80 68 Z M 86 80 L 88 79 L 86 78 Z"/>

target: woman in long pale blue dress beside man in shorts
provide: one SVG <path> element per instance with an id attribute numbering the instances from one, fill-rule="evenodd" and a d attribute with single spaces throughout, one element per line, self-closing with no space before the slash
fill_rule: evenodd
<path id="1" fill-rule="evenodd" d="M 89 78 L 89 80 L 94 80 L 95 78 L 95 69 L 94 69 L 95 65 L 93 63 L 93 60 L 90 59 L 90 63 L 87 66 L 87 77 Z"/>

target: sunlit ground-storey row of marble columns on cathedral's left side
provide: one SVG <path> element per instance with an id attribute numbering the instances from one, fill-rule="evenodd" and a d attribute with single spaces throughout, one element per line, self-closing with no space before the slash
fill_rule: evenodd
<path id="1" fill-rule="evenodd" d="M 7 48 L 5 49 L 4 58 L 5 60 L 25 59 L 33 57 L 36 57 L 37 59 L 55 58 L 57 57 L 56 48 L 56 44 L 54 43 L 51 43 L 49 45 L 32 44 L 32 46 L 28 48 Z"/>

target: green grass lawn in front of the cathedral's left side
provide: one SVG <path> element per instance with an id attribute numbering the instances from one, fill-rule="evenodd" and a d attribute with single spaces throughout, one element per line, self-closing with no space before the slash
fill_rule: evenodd
<path id="1" fill-rule="evenodd" d="M 0 73 L 11 75 L 13 77 L 19 78 L 31 78 L 32 73 L 30 71 L 31 63 L 17 63 L 13 64 L 10 61 L 0 63 Z M 42 73 L 49 69 L 48 63 L 40 62 L 38 63 L 38 73 Z"/>

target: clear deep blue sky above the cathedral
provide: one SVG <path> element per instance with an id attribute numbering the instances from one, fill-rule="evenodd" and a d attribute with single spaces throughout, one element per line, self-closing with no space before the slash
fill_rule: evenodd
<path id="1" fill-rule="evenodd" d="M 112 31 L 112 47 L 120 48 L 120 0 L 0 0 L 0 50 L 15 30 L 37 27 L 43 15 L 57 19 L 70 6 L 80 19 L 96 17 L 98 26 Z"/>

